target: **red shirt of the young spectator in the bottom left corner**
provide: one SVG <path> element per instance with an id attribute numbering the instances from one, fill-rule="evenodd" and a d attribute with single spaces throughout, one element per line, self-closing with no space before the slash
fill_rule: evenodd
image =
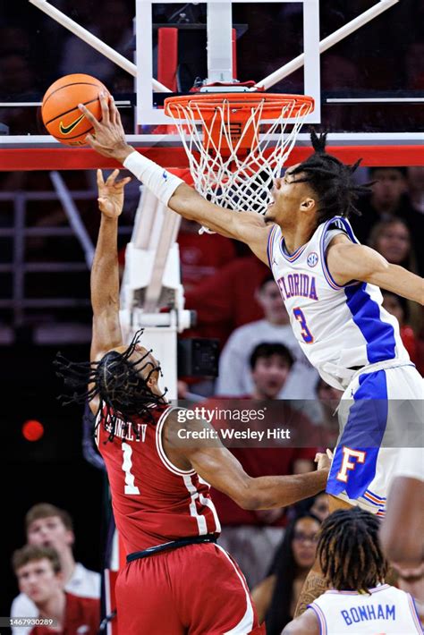
<path id="1" fill-rule="evenodd" d="M 61 631 L 48 626 L 34 626 L 30 635 L 97 635 L 100 626 L 100 600 L 65 593 L 64 627 Z"/>

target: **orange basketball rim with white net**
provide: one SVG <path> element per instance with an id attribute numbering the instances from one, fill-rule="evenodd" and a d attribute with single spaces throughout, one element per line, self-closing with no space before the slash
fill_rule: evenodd
<path id="1" fill-rule="evenodd" d="M 165 99 L 196 190 L 222 207 L 265 214 L 312 97 L 205 92 Z"/>

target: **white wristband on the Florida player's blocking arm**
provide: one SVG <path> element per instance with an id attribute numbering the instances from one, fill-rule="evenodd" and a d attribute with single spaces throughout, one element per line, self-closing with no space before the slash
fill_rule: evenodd
<path id="1" fill-rule="evenodd" d="M 144 183 L 164 205 L 168 204 L 174 191 L 183 183 L 178 176 L 166 172 L 163 167 L 137 151 L 126 157 L 123 166 Z"/>

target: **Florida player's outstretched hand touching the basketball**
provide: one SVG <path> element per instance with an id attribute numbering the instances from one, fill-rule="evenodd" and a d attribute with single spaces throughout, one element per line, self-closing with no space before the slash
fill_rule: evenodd
<path id="1" fill-rule="evenodd" d="M 86 141 L 100 155 L 115 158 L 123 163 L 134 148 L 131 148 L 125 140 L 121 115 L 114 104 L 114 97 L 101 92 L 99 100 L 102 108 L 101 122 L 98 122 L 86 106 L 78 105 L 81 113 L 85 114 L 94 128 L 94 132 L 87 135 Z"/>

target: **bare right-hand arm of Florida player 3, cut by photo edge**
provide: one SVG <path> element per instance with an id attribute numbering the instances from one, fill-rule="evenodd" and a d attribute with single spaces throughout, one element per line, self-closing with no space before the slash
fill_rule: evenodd
<path id="1" fill-rule="evenodd" d="M 424 280 L 420 275 L 391 265 L 377 251 L 355 244 L 343 234 L 331 241 L 326 262 L 337 284 L 360 280 L 424 304 Z"/>

